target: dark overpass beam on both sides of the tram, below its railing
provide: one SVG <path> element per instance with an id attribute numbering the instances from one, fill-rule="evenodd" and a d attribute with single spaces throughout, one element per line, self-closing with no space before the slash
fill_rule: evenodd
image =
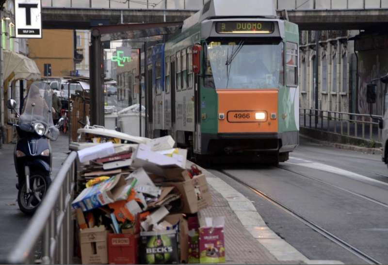
<path id="1" fill-rule="evenodd" d="M 44 29 L 86 30 L 98 24 L 178 22 L 197 10 L 104 9 L 44 7 Z M 288 17 L 300 30 L 369 30 L 388 26 L 388 8 L 373 9 L 285 9 L 278 16 Z"/>

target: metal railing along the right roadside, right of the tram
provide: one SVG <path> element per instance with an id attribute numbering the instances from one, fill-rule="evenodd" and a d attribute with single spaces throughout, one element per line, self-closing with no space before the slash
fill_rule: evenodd
<path id="1" fill-rule="evenodd" d="M 381 143 L 378 118 L 382 116 L 329 111 L 322 109 L 300 109 L 301 127 L 319 129 L 339 135 Z"/>

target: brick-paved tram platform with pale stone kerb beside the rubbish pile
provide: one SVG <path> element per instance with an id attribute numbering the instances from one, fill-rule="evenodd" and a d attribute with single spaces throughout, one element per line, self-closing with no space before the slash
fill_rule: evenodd
<path id="1" fill-rule="evenodd" d="M 213 205 L 199 214 L 225 217 L 227 264 L 305 264 L 308 261 L 299 252 L 295 255 L 297 250 L 266 226 L 246 197 L 211 172 L 201 170 L 206 175 Z M 271 244 L 264 246 L 260 240 L 269 240 Z"/>

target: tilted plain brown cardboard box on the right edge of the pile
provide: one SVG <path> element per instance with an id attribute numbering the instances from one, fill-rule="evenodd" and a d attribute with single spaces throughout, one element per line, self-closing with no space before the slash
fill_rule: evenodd
<path id="1" fill-rule="evenodd" d="M 181 195 L 181 213 L 195 214 L 212 204 L 210 190 L 204 174 L 184 182 L 166 182 L 164 186 L 174 186 Z"/>

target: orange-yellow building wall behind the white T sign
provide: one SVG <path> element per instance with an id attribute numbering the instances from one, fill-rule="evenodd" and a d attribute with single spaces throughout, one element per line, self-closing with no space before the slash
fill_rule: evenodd
<path id="1" fill-rule="evenodd" d="M 74 33 L 72 30 L 43 30 L 42 39 L 29 39 L 29 58 L 36 62 L 42 77 L 45 63 L 51 64 L 51 76 L 61 77 L 74 71 Z"/>

